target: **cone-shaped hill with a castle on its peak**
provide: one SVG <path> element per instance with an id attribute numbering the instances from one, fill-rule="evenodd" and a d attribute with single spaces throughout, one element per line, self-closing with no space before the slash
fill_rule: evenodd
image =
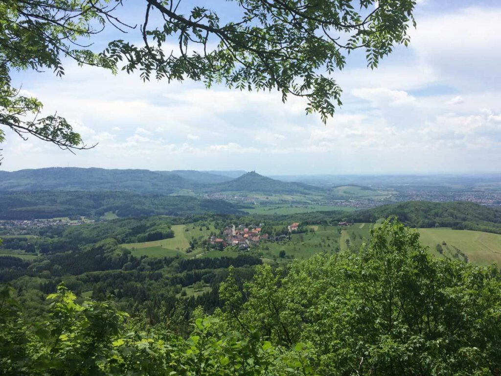
<path id="1" fill-rule="evenodd" d="M 236 179 L 204 187 L 206 192 L 256 192 L 269 194 L 314 194 L 325 193 L 319 187 L 275 180 L 256 173 L 247 172 Z"/>

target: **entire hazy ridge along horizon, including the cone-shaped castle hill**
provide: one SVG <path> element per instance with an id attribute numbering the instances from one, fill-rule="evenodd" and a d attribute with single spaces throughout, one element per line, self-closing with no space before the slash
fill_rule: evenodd
<path id="1" fill-rule="evenodd" d="M 236 178 L 237 173 L 243 172 Z M 219 192 L 319 194 L 325 190 L 244 171 L 150 171 L 51 167 L 0 171 L 0 191 L 127 191 L 139 194 L 203 195 Z"/>

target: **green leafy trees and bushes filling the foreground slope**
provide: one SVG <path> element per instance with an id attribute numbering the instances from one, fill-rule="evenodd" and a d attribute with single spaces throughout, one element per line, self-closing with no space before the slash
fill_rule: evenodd
<path id="1" fill-rule="evenodd" d="M 501 372 L 497 268 L 434 259 L 398 222 L 377 228 L 357 253 L 317 255 L 276 270 L 252 266 L 250 258 L 207 261 L 212 270 L 200 270 L 199 260 L 137 259 L 111 240 L 83 249 L 77 264 L 70 257 L 54 255 L 15 289 L 0 291 L 0 373 Z M 53 263 L 60 272 L 84 274 L 62 277 L 47 304 L 34 305 L 34 289 L 56 287 L 57 279 L 40 278 Z M 96 267 L 101 271 L 86 272 Z M 169 278 L 162 277 L 167 270 Z M 201 280 L 218 292 L 174 295 Z M 90 285 L 97 300 L 81 296 Z"/>

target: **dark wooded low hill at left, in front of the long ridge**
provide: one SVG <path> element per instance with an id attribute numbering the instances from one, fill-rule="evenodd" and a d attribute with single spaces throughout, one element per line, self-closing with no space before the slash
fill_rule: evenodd
<path id="1" fill-rule="evenodd" d="M 238 209 L 238 206 L 222 200 L 191 196 L 141 195 L 119 191 L 4 192 L 0 195 L 2 220 L 101 217 L 107 212 L 119 217 L 245 214 Z"/>

